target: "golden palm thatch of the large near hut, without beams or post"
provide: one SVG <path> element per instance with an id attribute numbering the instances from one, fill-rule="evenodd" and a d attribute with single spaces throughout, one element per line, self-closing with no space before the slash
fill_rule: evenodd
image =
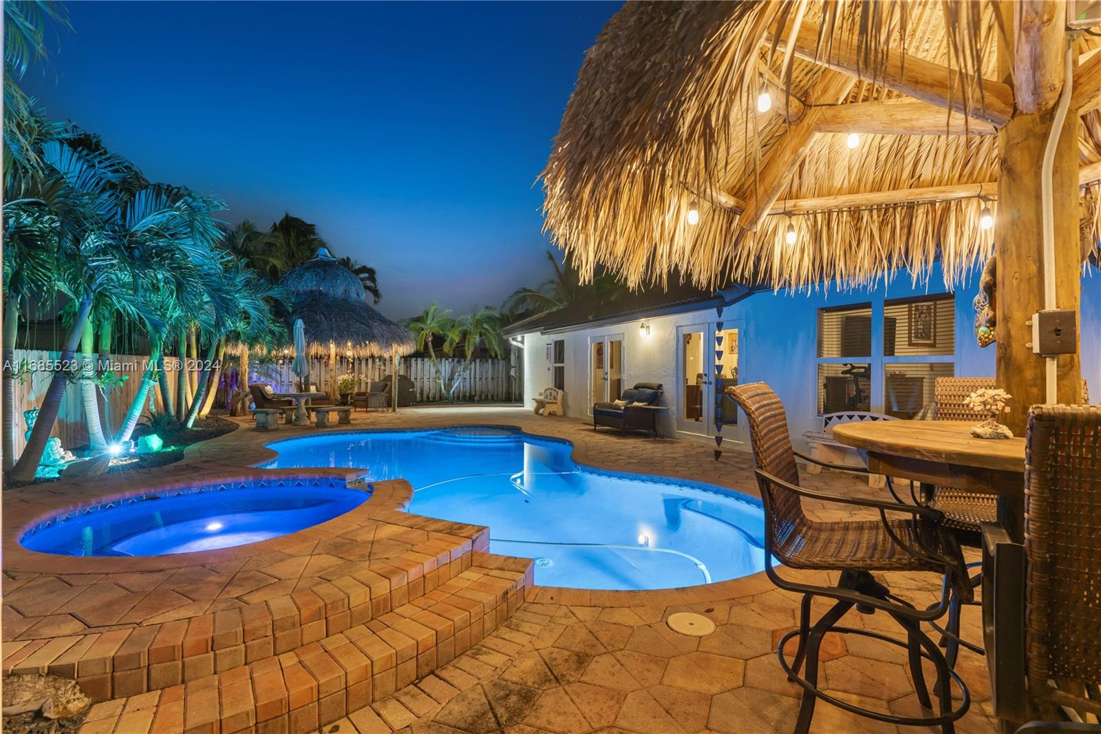
<path id="1" fill-rule="evenodd" d="M 545 226 L 582 273 L 600 262 L 633 287 L 676 270 L 708 288 L 730 280 L 777 288 L 832 278 L 869 283 L 900 267 L 920 278 L 938 258 L 950 285 L 993 251 L 993 230 L 978 226 L 984 202 L 974 195 L 848 208 L 815 208 L 806 199 L 959 184 L 974 184 L 972 194 L 983 184 L 983 196 L 996 196 L 991 120 L 1004 116 L 1004 104 L 996 84 L 973 80 L 999 78 L 995 47 L 1004 19 L 995 15 L 996 6 L 629 2 L 589 50 L 563 117 L 543 172 Z M 1012 18 L 1009 23 L 1012 29 Z M 795 43 L 788 56 L 784 41 L 795 36 L 795 25 L 803 30 L 799 39 L 808 29 L 811 41 L 817 36 L 819 62 L 848 54 L 862 78 L 806 58 L 806 47 L 800 56 Z M 782 42 L 772 43 L 773 36 Z M 955 69 L 950 97 L 964 114 L 950 119 L 941 110 L 939 132 L 951 123 L 966 134 L 869 132 L 850 150 L 842 125 L 806 134 L 784 163 L 782 149 L 791 153 L 793 136 L 806 131 L 800 117 L 837 116 L 846 105 L 868 102 L 928 112 L 931 105 L 880 83 L 889 52 L 900 50 L 909 60 Z M 902 71 L 904 77 L 918 73 Z M 763 86 L 772 93 L 768 114 L 756 110 Z M 791 105 L 785 91 L 795 99 Z M 864 108 L 852 111 L 858 109 Z M 1079 132 L 1081 163 L 1101 161 L 1098 111 L 1082 118 Z M 776 203 L 760 207 L 771 214 L 746 225 L 745 203 L 762 194 L 777 159 L 789 177 Z M 1095 191 L 1088 188 L 1086 218 L 1090 242 L 1097 242 Z M 695 226 L 686 222 L 694 202 Z M 785 216 L 793 208 L 795 216 Z M 798 233 L 794 247 L 784 242 L 789 223 Z"/>

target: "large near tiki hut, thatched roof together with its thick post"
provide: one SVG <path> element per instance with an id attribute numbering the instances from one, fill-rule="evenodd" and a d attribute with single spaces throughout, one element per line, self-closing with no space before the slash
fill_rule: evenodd
<path id="1" fill-rule="evenodd" d="M 952 288 L 996 250 L 999 384 L 1054 402 L 1056 360 L 1021 332 L 1078 310 L 1101 184 L 1101 53 L 1068 4 L 629 2 L 563 117 L 545 227 L 632 287 L 871 285 L 939 260 Z M 1078 355 L 1057 371 L 1073 402 Z"/>

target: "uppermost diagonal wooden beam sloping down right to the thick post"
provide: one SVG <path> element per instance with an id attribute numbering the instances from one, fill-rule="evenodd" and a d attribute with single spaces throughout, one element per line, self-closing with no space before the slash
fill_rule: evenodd
<path id="1" fill-rule="evenodd" d="M 770 33 L 767 41 L 771 40 Z M 780 45 L 786 47 L 787 42 L 795 44 L 795 55 L 799 58 L 849 74 L 854 78 L 873 82 L 937 107 L 966 112 L 973 119 L 1001 127 L 1013 115 L 1013 89 L 1001 82 L 982 79 L 982 99 L 978 98 L 975 93 L 973 100 L 975 106 L 964 110 L 962 89 L 971 80 L 941 64 L 903 54 L 900 51 L 887 51 L 883 69 L 873 76 L 870 69 L 863 68 L 860 54 L 848 36 L 835 39 L 830 54 L 819 57 L 818 26 L 805 21 L 794 39 L 782 39 Z"/>

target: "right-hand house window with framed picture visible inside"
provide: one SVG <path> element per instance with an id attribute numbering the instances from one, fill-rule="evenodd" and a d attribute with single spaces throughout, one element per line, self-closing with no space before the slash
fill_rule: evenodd
<path id="1" fill-rule="evenodd" d="M 956 301 L 951 294 L 886 301 L 883 412 L 903 419 L 930 412 L 937 378 L 956 374 L 955 352 Z"/>

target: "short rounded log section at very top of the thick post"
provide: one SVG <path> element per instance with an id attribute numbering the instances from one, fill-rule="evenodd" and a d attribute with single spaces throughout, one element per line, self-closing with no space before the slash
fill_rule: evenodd
<path id="1" fill-rule="evenodd" d="M 1016 43 L 1013 94 L 1025 114 L 1051 108 L 1062 90 L 1065 0 L 1017 0 L 1013 3 Z"/>

